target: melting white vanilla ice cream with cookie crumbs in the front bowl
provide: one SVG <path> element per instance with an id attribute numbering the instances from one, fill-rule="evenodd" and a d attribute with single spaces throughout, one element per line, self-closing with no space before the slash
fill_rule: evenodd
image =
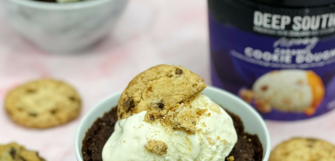
<path id="1" fill-rule="evenodd" d="M 142 111 L 117 121 L 104 146 L 103 161 L 224 161 L 237 142 L 230 116 L 203 94 L 189 106 L 175 107 L 169 112 Z M 173 119 L 168 121 L 169 116 L 186 125 L 175 125 Z"/>

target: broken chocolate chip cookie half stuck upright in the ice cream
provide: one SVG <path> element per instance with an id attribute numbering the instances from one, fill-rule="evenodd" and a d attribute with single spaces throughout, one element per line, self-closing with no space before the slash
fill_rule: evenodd
<path id="1" fill-rule="evenodd" d="M 150 104 L 159 108 L 189 102 L 206 84 L 191 71 L 171 65 L 158 65 L 130 81 L 118 101 L 118 119 L 148 110 Z"/>

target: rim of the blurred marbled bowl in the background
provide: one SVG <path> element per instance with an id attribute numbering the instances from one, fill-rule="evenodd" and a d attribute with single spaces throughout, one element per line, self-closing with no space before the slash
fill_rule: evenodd
<path id="1" fill-rule="evenodd" d="M 68 2 L 68 3 L 53 3 L 53 2 L 44 2 L 44 1 L 36 1 L 36 0 L 8 0 L 8 1 L 12 1 L 20 5 L 28 6 L 31 8 L 37 8 L 37 9 L 73 10 L 73 9 L 81 9 L 81 8 L 98 6 L 98 5 L 104 4 L 112 0 L 83 0 L 83 1 Z"/>

